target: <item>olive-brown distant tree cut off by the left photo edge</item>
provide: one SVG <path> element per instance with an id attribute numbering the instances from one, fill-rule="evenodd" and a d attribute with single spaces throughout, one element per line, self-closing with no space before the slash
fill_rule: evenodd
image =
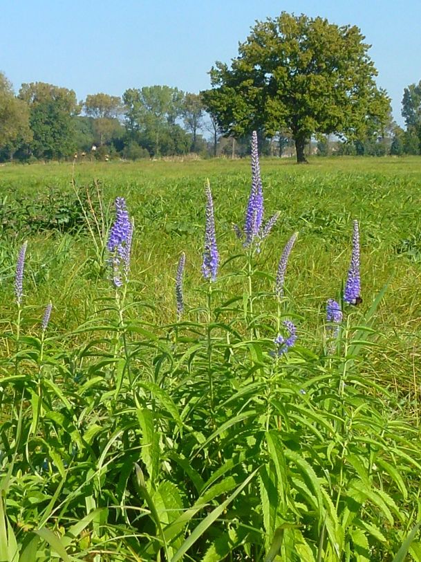
<path id="1" fill-rule="evenodd" d="M 0 72 L 0 152 L 12 158 L 31 138 L 28 105 L 15 97 L 12 84 Z"/>

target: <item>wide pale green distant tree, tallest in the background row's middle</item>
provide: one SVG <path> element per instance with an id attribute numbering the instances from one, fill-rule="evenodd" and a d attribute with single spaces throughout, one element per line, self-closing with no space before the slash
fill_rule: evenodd
<path id="1" fill-rule="evenodd" d="M 153 138 L 151 152 L 161 154 L 161 140 L 182 114 L 184 93 L 169 86 L 150 86 L 128 89 L 123 94 L 126 127 L 135 138 L 147 133 Z"/>

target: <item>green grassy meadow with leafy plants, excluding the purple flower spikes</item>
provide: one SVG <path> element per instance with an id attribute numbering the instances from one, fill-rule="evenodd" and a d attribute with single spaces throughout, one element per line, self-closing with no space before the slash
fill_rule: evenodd
<path id="1" fill-rule="evenodd" d="M 421 160 L 263 159 L 261 173 L 265 217 L 280 215 L 247 262 L 232 225 L 248 159 L 0 167 L 0 561 L 421 561 L 404 544 L 421 515 Z M 104 248 L 115 197 L 135 224 L 122 291 Z M 329 341 L 353 219 L 363 302 Z M 297 343 L 273 357 L 287 318 Z"/>

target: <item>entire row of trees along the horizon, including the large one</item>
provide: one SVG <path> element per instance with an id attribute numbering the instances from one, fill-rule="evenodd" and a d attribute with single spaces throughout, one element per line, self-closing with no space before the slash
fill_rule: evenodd
<path id="1" fill-rule="evenodd" d="M 200 93 L 150 86 L 78 102 L 44 82 L 15 95 L 0 73 L 0 159 L 241 156 L 253 130 L 263 154 L 294 152 L 298 162 L 308 153 L 421 154 L 421 81 L 404 89 L 402 129 L 364 39 L 356 26 L 282 12 L 256 22 Z"/>

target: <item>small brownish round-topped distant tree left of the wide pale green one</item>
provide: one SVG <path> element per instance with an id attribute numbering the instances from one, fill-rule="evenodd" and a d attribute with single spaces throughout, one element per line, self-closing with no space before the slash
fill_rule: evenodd
<path id="1" fill-rule="evenodd" d="M 109 96 L 107 93 L 89 94 L 84 102 L 84 111 L 94 119 L 93 131 L 98 145 L 109 143 L 115 136 L 122 136 L 119 118 L 124 108 L 119 96 Z"/>

